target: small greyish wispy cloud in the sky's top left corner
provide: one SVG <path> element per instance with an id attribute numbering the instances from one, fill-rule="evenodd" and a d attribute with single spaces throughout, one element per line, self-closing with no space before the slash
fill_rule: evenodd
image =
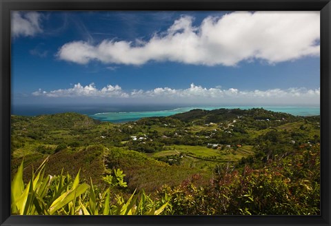
<path id="1" fill-rule="evenodd" d="M 38 12 L 12 12 L 12 37 L 32 37 L 43 32 L 41 29 L 41 14 Z"/>

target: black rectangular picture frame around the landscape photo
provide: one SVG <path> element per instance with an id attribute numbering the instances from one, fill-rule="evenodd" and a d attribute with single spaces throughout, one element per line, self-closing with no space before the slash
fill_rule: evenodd
<path id="1" fill-rule="evenodd" d="M 1 225 L 330 225 L 329 0 L 0 0 L 0 224 Z M 321 11 L 321 215 L 320 216 L 11 216 L 10 215 L 10 11 L 11 10 L 320 10 Z"/>

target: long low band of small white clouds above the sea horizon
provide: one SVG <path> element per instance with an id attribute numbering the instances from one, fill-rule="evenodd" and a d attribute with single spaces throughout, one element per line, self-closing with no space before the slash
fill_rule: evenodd
<path id="1" fill-rule="evenodd" d="M 119 85 L 107 85 L 97 89 L 94 83 L 83 86 L 77 83 L 72 88 L 52 90 L 46 92 L 39 89 L 33 96 L 55 97 L 97 97 L 126 99 L 137 101 L 151 101 L 153 103 L 319 103 L 320 88 L 289 88 L 286 90 L 238 90 L 236 88 L 203 88 L 193 83 L 186 89 L 154 88 L 153 90 L 123 91 Z M 277 102 L 278 101 L 278 102 Z M 284 102 L 285 101 L 285 102 Z"/>

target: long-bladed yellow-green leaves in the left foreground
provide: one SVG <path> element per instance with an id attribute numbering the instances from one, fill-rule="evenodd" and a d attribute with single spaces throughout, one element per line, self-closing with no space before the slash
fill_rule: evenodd
<path id="1" fill-rule="evenodd" d="M 117 184 L 111 181 L 108 187 L 99 189 L 92 184 L 81 183 L 79 172 L 74 179 L 70 175 L 45 175 L 46 158 L 32 172 L 30 181 L 23 182 L 23 161 L 12 179 L 11 210 L 18 215 L 159 215 L 168 201 L 153 201 L 145 192 L 132 194 L 125 200 L 112 194 L 112 188 L 123 182 L 124 174 L 117 170 Z M 125 184 L 122 184 L 125 187 Z"/>

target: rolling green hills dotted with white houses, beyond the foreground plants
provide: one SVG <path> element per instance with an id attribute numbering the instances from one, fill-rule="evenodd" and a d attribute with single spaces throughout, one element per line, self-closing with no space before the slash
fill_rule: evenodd
<path id="1" fill-rule="evenodd" d="M 112 169 L 128 189 L 153 192 L 194 174 L 205 184 L 219 165 L 263 167 L 269 158 L 319 143 L 319 116 L 252 110 L 191 110 L 114 124 L 77 113 L 12 116 L 12 173 L 24 158 L 26 178 L 47 156 L 47 174 L 63 169 L 101 183 Z M 239 164 L 240 163 L 240 164 Z"/>

